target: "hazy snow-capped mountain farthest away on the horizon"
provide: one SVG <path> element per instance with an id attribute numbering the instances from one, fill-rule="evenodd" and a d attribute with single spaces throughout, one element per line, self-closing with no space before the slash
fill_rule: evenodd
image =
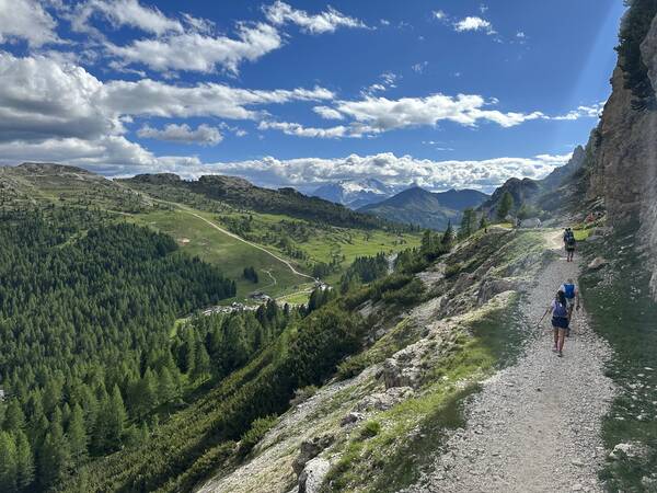
<path id="1" fill-rule="evenodd" d="M 357 209 L 385 200 L 399 191 L 399 187 L 387 185 L 377 179 L 365 179 L 326 183 L 315 188 L 311 195 Z"/>

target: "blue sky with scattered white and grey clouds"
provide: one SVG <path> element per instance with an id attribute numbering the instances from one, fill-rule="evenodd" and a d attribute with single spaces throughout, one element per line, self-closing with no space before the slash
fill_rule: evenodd
<path id="1" fill-rule="evenodd" d="M 585 144 L 621 0 L 0 0 L 0 160 L 491 191 Z"/>

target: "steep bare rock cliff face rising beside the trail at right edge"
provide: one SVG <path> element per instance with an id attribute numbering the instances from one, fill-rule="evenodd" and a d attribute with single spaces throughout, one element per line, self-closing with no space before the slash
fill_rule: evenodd
<path id="1" fill-rule="evenodd" d="M 641 43 L 653 90 L 657 91 L 657 16 Z M 657 111 L 633 107 L 622 60 L 611 78 L 612 94 L 589 147 L 587 198 L 602 197 L 612 226 L 638 223 L 639 250 L 650 260 L 652 290 L 657 298 Z"/>

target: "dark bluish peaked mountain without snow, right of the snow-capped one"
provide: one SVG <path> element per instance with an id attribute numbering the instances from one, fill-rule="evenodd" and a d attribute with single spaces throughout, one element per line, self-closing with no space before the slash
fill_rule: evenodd
<path id="1" fill-rule="evenodd" d="M 396 222 L 441 230 L 450 220 L 453 225 L 459 223 L 464 209 L 477 207 L 487 198 L 488 195 L 475 190 L 433 193 L 414 186 L 358 210 Z"/>

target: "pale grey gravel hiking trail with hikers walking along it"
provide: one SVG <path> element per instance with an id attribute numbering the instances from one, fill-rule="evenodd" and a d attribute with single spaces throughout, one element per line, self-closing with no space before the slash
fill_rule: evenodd
<path id="1" fill-rule="evenodd" d="M 548 248 L 558 252 L 560 234 L 546 233 Z M 552 352 L 550 314 L 537 326 L 558 286 L 577 278 L 577 261 L 561 252 L 528 288 L 522 354 L 483 382 L 465 404 L 465 427 L 448 434 L 406 492 L 603 491 L 597 472 L 604 460 L 601 422 L 614 393 L 603 374 L 611 349 L 584 310 L 573 317 L 563 358 Z"/>

